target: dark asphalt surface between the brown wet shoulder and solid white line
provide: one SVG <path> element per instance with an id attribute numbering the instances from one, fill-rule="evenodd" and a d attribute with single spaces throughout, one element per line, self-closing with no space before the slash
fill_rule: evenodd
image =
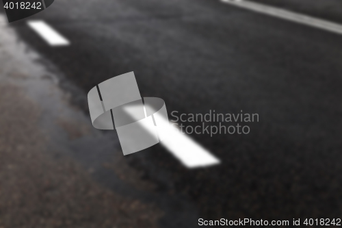
<path id="1" fill-rule="evenodd" d="M 219 166 L 189 170 L 159 145 L 125 157 L 158 192 L 208 220 L 341 216 L 341 36 L 211 0 L 60 0 L 34 18 L 71 45 L 13 26 L 84 92 L 134 71 L 169 115 L 259 114 L 248 135 L 192 135 Z M 75 103 L 88 112 L 86 98 Z"/>

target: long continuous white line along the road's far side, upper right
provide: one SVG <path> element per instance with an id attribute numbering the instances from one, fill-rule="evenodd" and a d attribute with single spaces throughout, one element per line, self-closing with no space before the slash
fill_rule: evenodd
<path id="1" fill-rule="evenodd" d="M 290 12 L 288 10 L 282 10 L 279 8 L 274 8 L 272 6 L 263 5 L 260 3 L 254 3 L 251 1 L 244 1 L 244 0 L 221 0 L 224 3 L 228 3 L 231 5 L 236 5 L 240 8 L 245 8 L 248 10 L 252 10 L 254 12 L 259 12 L 262 14 L 267 14 L 269 16 L 276 16 L 278 18 L 282 18 L 285 20 L 293 21 L 296 23 L 309 25 L 312 27 L 317 27 L 319 29 L 324 29 L 327 31 L 332 31 L 337 34 L 342 35 L 342 25 L 337 23 L 333 23 L 330 21 L 325 21 L 319 18 L 315 18 L 312 16 L 306 16 L 303 14 L 298 14 L 295 12 Z"/>

